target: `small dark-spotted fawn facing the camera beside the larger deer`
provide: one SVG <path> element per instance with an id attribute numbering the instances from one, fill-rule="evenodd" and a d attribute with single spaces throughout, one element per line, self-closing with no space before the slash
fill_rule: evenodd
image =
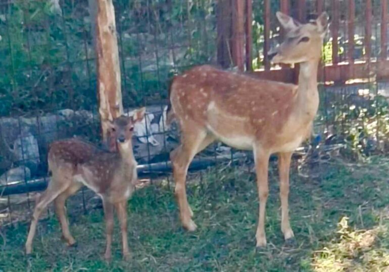
<path id="1" fill-rule="evenodd" d="M 78 139 L 57 141 L 50 145 L 47 161 L 52 180 L 36 202 L 26 241 L 27 254 L 32 250 L 38 218 L 53 200 L 63 238 L 68 245 L 75 244 L 69 231 L 65 201 L 85 185 L 103 199 L 107 233 L 105 258 L 111 258 L 114 207 L 122 232 L 123 257 L 129 256 L 126 206 L 137 180 L 131 139 L 134 124 L 143 119 L 144 112 L 145 108 L 141 108 L 133 116 L 120 116 L 111 123 L 109 146 L 116 152 L 104 152 Z"/>

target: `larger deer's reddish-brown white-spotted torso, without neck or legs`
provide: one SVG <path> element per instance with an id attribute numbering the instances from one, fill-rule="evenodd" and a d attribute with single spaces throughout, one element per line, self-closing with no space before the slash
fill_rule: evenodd
<path id="1" fill-rule="evenodd" d="M 251 149 L 258 138 L 271 140 L 296 111 L 296 85 L 209 65 L 176 77 L 171 88 L 172 108 L 181 125 L 206 127 L 221 141 L 240 149 Z"/>

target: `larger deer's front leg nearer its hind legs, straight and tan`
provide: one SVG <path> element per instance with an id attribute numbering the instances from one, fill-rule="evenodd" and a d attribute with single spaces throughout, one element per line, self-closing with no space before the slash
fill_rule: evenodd
<path id="1" fill-rule="evenodd" d="M 270 154 L 263 151 L 260 147 L 254 148 L 255 166 L 257 172 L 257 187 L 259 194 L 259 220 L 257 233 L 257 247 L 266 246 L 265 234 L 265 216 L 266 216 L 266 201 L 269 195 L 268 184 L 268 167 Z"/>

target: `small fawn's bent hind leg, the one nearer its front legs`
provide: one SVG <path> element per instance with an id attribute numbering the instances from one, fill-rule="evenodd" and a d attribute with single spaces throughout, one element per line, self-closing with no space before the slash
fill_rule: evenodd
<path id="1" fill-rule="evenodd" d="M 76 241 L 74 240 L 73 236 L 70 234 L 69 231 L 69 222 L 66 216 L 65 202 L 66 199 L 68 199 L 69 196 L 71 196 L 76 191 L 78 191 L 81 188 L 81 186 L 82 186 L 81 183 L 74 182 L 69 188 L 67 188 L 63 193 L 58 195 L 56 199 L 54 199 L 56 214 L 58 216 L 58 220 L 61 223 L 62 236 L 65 239 L 68 246 L 74 245 Z"/>

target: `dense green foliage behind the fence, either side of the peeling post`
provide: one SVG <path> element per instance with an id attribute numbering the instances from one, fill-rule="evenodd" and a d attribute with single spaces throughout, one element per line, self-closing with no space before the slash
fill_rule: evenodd
<path id="1" fill-rule="evenodd" d="M 117 30 L 125 106 L 166 98 L 173 73 L 215 54 L 212 0 L 120 1 Z M 0 10 L 0 116 L 96 105 L 88 3 L 15 1 Z"/>

